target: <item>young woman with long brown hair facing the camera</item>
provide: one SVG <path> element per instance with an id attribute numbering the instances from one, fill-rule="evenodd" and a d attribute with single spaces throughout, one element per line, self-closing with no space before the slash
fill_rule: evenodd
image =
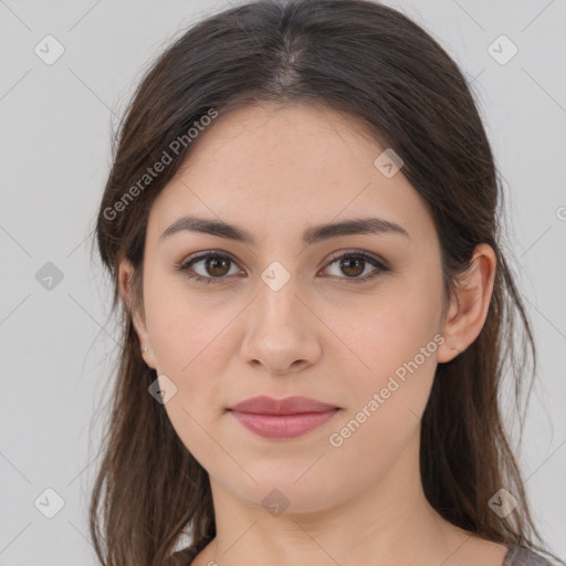
<path id="1" fill-rule="evenodd" d="M 551 564 L 497 399 L 515 314 L 535 354 L 499 197 L 465 80 L 401 13 L 253 2 L 185 33 L 99 208 L 101 562 Z"/>

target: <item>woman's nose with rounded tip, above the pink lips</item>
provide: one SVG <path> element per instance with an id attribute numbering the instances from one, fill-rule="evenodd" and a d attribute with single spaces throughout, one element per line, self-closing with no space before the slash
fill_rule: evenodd
<path id="1" fill-rule="evenodd" d="M 321 323 L 297 295 L 293 277 L 274 291 L 260 285 L 247 310 L 241 355 L 255 369 L 285 375 L 313 366 L 322 356 Z"/>

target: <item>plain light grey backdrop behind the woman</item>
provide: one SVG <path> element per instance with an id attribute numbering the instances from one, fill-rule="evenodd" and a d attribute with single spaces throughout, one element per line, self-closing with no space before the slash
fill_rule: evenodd
<path id="1" fill-rule="evenodd" d="M 506 250 L 541 361 L 516 448 L 535 520 L 564 557 L 566 2 L 387 3 L 432 33 L 473 82 L 503 175 Z M 101 429 L 92 419 L 117 329 L 90 238 L 113 125 L 154 57 L 229 6 L 0 0 L 2 566 L 95 564 L 86 504 Z"/>

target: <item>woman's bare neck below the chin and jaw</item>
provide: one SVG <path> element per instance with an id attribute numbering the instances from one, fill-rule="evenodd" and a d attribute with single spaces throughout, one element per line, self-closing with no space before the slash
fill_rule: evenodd
<path id="1" fill-rule="evenodd" d="M 211 478 L 217 536 L 202 564 L 442 564 L 470 537 L 428 503 L 418 449 L 417 430 L 395 465 L 375 482 L 368 480 L 369 489 L 356 492 L 352 486 L 352 496 L 333 506 L 324 504 L 328 497 L 323 494 L 312 505 L 317 509 L 303 503 L 300 511 L 291 511 L 291 504 L 281 514 L 242 501 Z"/>

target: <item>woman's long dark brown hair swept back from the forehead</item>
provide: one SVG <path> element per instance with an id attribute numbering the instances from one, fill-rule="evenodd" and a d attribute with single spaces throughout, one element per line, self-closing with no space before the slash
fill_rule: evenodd
<path id="1" fill-rule="evenodd" d="M 106 566 L 157 566 L 181 534 L 191 532 L 196 552 L 216 536 L 208 473 L 179 440 L 164 406 L 148 395 L 157 376 L 142 358 L 132 310 L 143 310 L 148 213 L 195 146 L 187 132 L 212 112 L 263 101 L 350 113 L 382 147 L 401 156 L 403 175 L 434 219 L 447 302 L 458 274 L 470 268 L 474 247 L 486 242 L 495 251 L 484 327 L 464 352 L 437 368 L 421 423 L 420 470 L 427 499 L 452 524 L 545 552 L 532 539 L 542 541 L 499 398 L 509 369 L 521 409 L 528 358 L 535 375 L 535 346 L 499 245 L 501 181 L 470 87 L 442 48 L 394 9 L 363 0 L 292 0 L 251 2 L 190 28 L 147 72 L 117 133 L 96 223 L 99 254 L 114 282 L 113 311 L 122 306 L 123 323 L 90 510 L 98 558 Z M 147 168 L 164 151 L 171 154 L 178 139 L 185 142 L 176 146 L 172 163 L 147 182 Z M 122 303 L 117 281 L 124 259 L 135 268 L 136 301 L 129 305 Z M 518 501 L 506 518 L 488 504 L 501 488 Z"/>

